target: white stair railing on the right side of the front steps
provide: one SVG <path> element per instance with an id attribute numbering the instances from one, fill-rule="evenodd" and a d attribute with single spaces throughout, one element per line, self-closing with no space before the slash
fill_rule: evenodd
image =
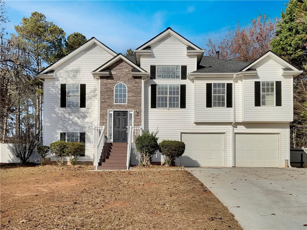
<path id="1" fill-rule="evenodd" d="M 135 147 L 135 138 L 137 138 L 139 135 L 142 135 L 142 126 L 130 126 L 128 130 L 128 146 L 127 146 L 127 170 L 130 166 L 130 160 L 131 160 L 131 154 L 136 153 L 137 154 L 137 160 L 140 162 L 140 153 L 136 150 Z M 132 151 L 133 152 L 132 152 Z"/>

